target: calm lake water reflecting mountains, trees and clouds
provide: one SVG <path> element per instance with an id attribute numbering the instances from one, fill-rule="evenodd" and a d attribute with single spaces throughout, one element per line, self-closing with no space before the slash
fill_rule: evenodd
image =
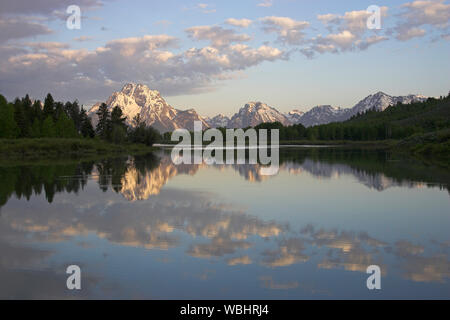
<path id="1" fill-rule="evenodd" d="M 0 298 L 450 298 L 449 171 L 339 148 L 280 160 L 276 176 L 166 152 L 0 167 Z"/>

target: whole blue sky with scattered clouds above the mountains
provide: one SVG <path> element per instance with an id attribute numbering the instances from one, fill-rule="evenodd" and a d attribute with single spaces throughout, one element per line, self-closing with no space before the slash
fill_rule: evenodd
<path id="1" fill-rule="evenodd" d="M 248 101 L 345 108 L 449 92 L 450 2 L 0 0 L 0 56 L 9 100 L 50 92 L 89 108 L 134 82 L 204 116 Z"/>

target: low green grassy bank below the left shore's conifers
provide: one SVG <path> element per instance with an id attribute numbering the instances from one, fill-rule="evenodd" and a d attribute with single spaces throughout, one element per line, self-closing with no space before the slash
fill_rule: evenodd
<path id="1" fill-rule="evenodd" d="M 142 154 L 156 148 L 143 144 L 112 144 L 98 139 L 0 139 L 0 160 L 93 158 Z"/>

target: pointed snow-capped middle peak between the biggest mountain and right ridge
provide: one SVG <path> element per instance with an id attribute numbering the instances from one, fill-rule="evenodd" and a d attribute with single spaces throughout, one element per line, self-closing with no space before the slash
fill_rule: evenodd
<path id="1" fill-rule="evenodd" d="M 230 128 L 254 127 L 262 122 L 281 122 L 290 125 L 291 122 L 277 109 L 262 102 L 249 102 L 235 113 L 228 124 Z"/>

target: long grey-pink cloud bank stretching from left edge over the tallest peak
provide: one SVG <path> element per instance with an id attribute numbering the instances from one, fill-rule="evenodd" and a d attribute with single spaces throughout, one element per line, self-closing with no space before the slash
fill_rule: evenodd
<path id="1" fill-rule="evenodd" d="M 126 81 L 145 83 L 165 95 L 190 94 L 212 90 L 220 79 L 264 61 L 286 58 L 267 45 L 232 42 L 181 52 L 179 39 L 168 35 L 115 39 L 95 50 L 56 42 L 0 46 L 0 87 L 11 98 L 26 88 L 34 97 L 51 91 L 55 98 L 82 102 L 106 98 Z"/>

